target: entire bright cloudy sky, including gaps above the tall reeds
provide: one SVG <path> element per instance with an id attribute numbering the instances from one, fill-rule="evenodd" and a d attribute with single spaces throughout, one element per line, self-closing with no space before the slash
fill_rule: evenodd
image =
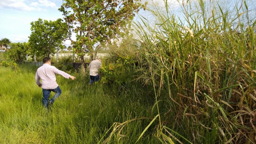
<path id="1" fill-rule="evenodd" d="M 163 0 L 142 0 L 142 3 L 148 1 L 148 7 L 158 10 L 165 10 Z M 172 11 L 179 10 L 182 0 L 167 0 Z M 185 0 L 186 1 L 186 0 Z M 190 0 L 195 1 L 195 0 Z M 205 0 L 207 1 L 207 0 Z M 235 0 L 211 0 L 211 1 L 235 1 Z M 239 0 L 236 0 L 239 1 Z M 256 0 L 249 0 L 250 6 L 256 7 Z M 11 42 L 27 42 L 31 34 L 30 23 L 37 21 L 38 18 L 55 21 L 63 18 L 62 12 L 58 8 L 62 5 L 62 0 L 0 0 L 0 39 L 8 38 Z M 152 16 L 149 12 L 141 10 L 140 15 L 146 18 Z M 135 21 L 139 20 L 138 16 Z M 75 37 L 72 39 L 75 40 Z M 65 45 L 69 46 L 70 41 L 65 41 Z"/>

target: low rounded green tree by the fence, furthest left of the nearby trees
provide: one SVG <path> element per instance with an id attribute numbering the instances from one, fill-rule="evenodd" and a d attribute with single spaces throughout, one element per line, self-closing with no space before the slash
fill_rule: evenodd
<path id="1" fill-rule="evenodd" d="M 28 43 L 11 43 L 9 50 L 6 52 L 7 60 L 14 60 L 15 62 L 23 62 L 26 60 L 28 50 Z"/>

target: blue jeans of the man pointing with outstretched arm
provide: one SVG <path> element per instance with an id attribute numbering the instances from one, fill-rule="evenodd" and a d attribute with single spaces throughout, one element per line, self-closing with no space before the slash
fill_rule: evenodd
<path id="1" fill-rule="evenodd" d="M 55 93 L 55 95 L 53 96 L 53 98 L 50 100 L 50 102 L 53 104 L 53 102 L 55 101 L 56 98 L 58 98 L 61 94 L 61 90 L 60 87 L 56 87 L 55 89 L 43 89 L 43 106 L 48 108 L 48 100 L 49 100 L 49 96 L 51 91 L 53 91 Z"/>

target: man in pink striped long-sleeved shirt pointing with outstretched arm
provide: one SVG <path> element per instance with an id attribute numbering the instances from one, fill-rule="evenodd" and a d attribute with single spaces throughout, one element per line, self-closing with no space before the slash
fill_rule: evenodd
<path id="1" fill-rule="evenodd" d="M 58 70 L 54 66 L 51 66 L 50 57 L 44 57 L 43 66 L 38 68 L 35 73 L 35 81 L 38 87 L 43 88 L 43 106 L 46 108 L 51 106 L 54 103 L 55 99 L 58 98 L 61 94 L 60 87 L 56 82 L 56 73 L 64 76 L 66 79 L 76 79 L 74 76 L 71 76 L 68 73 Z M 40 79 L 42 83 L 40 83 Z M 54 92 L 55 95 L 49 101 L 51 91 Z"/>

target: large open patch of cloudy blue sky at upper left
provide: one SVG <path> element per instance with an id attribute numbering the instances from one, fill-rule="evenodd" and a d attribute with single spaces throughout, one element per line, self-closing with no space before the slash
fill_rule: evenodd
<path id="1" fill-rule="evenodd" d="M 32 21 L 63 18 L 61 4 L 62 0 L 0 0 L 0 39 L 27 42 Z"/>

